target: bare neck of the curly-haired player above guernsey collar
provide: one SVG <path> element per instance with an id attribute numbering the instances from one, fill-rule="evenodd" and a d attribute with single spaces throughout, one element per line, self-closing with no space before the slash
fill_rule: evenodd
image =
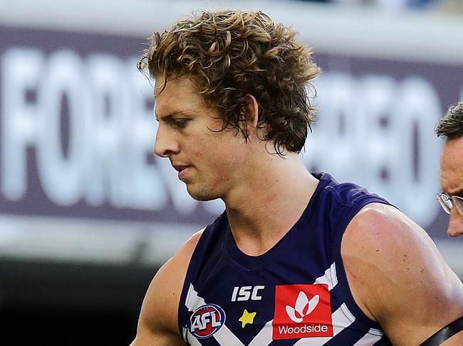
<path id="1" fill-rule="evenodd" d="M 293 227 L 318 185 L 296 153 L 274 157 L 250 170 L 227 198 L 227 217 L 239 249 L 264 254 Z"/>

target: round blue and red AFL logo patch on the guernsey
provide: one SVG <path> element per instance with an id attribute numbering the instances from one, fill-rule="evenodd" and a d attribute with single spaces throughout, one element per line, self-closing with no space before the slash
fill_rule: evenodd
<path id="1" fill-rule="evenodd" d="M 225 324 L 224 310 L 215 304 L 199 306 L 188 321 L 188 329 L 197 339 L 206 339 Z"/>

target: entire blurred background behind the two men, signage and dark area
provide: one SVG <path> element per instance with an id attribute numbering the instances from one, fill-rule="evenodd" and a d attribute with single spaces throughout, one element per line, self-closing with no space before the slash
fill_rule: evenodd
<path id="1" fill-rule="evenodd" d="M 463 277 L 433 134 L 463 99 L 461 1 L 0 0 L 5 340 L 129 345 L 152 276 L 222 212 L 152 156 L 152 87 L 136 69 L 152 31 L 220 8 L 266 11 L 313 47 L 320 115 L 303 162 L 384 195 Z"/>

